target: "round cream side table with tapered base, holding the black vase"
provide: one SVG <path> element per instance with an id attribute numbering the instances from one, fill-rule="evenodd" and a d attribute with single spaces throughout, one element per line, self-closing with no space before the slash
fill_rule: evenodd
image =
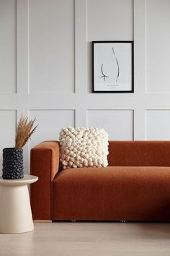
<path id="1" fill-rule="evenodd" d="M 16 234 L 34 229 L 27 184 L 37 179 L 26 174 L 23 179 L 0 177 L 0 233 Z"/>

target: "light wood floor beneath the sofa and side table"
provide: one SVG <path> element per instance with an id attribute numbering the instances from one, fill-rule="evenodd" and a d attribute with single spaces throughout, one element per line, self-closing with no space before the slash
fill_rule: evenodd
<path id="1" fill-rule="evenodd" d="M 0 255 L 169 256 L 170 223 L 35 223 L 24 234 L 0 234 Z"/>

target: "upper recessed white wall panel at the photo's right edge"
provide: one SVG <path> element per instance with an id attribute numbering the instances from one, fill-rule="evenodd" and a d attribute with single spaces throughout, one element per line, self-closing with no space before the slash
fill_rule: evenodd
<path id="1" fill-rule="evenodd" d="M 146 90 L 148 93 L 170 93 L 169 24 L 170 1 L 146 1 Z"/>

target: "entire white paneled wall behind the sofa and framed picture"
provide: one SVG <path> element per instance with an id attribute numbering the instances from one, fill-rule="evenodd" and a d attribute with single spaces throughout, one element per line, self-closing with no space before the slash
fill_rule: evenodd
<path id="1" fill-rule="evenodd" d="M 0 0 L 0 150 L 20 114 L 40 124 L 25 172 L 30 148 L 61 127 L 170 140 L 169 12 L 169 0 Z M 135 93 L 91 93 L 92 40 L 134 40 Z"/>

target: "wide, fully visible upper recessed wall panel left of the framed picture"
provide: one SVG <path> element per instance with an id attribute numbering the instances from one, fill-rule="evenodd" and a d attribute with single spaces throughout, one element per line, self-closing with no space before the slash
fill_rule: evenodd
<path id="1" fill-rule="evenodd" d="M 29 0 L 30 93 L 74 93 L 74 0 Z"/>

